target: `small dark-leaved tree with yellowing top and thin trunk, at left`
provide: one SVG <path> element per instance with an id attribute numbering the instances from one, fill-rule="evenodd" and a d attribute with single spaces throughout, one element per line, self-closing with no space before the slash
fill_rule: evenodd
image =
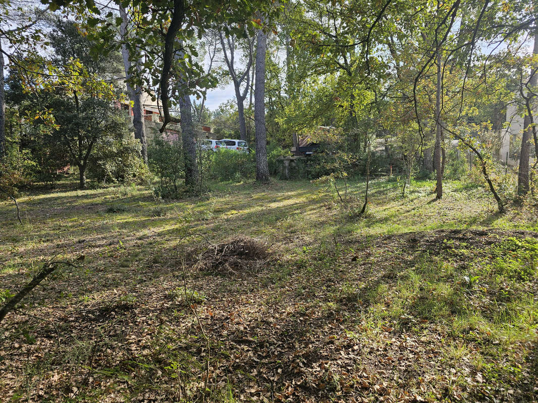
<path id="1" fill-rule="evenodd" d="M 84 188 L 98 143 L 107 136 L 121 138 L 125 127 L 123 112 L 115 106 L 122 96 L 111 83 L 121 71 L 120 56 L 107 52 L 90 57 L 87 49 L 92 42 L 73 21 L 52 16 L 50 23 L 48 39 L 54 52 L 49 59 L 37 58 L 39 64 L 47 66 L 47 74 L 26 68 L 36 59 L 32 54 L 30 60 L 19 58 L 13 71 L 31 98 L 25 119 L 44 128 L 36 132 L 37 142 L 53 145 L 52 157 L 59 161 L 67 156 L 68 162 L 78 168 L 79 186 Z"/>

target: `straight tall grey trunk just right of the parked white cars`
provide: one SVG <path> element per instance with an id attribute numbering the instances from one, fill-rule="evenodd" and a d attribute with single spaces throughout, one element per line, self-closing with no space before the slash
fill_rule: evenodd
<path id="1" fill-rule="evenodd" d="M 265 129 L 265 53 L 267 51 L 267 34 L 262 30 L 257 33 L 256 46 L 256 89 L 254 90 L 254 126 L 256 129 L 256 180 L 269 181 L 267 164 L 267 133 Z"/>

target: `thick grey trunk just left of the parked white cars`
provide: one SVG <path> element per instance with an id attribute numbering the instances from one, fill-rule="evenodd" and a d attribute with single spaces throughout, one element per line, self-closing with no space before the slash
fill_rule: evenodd
<path id="1" fill-rule="evenodd" d="M 181 88 L 180 88 L 181 91 Z M 183 161 L 185 163 L 185 186 L 196 189 L 198 183 L 198 164 L 196 163 L 196 145 L 194 143 L 194 125 L 190 97 L 185 94 L 179 98 L 181 114 L 181 139 L 183 141 Z"/>

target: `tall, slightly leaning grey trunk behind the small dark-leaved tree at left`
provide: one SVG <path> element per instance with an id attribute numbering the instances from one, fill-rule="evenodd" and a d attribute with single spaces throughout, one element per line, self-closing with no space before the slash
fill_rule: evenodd
<path id="1" fill-rule="evenodd" d="M 127 24 L 129 22 L 129 18 L 127 16 L 127 13 L 125 12 L 125 9 L 120 5 L 119 6 L 119 13 L 122 16 L 122 24 L 119 27 L 119 32 L 122 38 L 122 42 L 126 42 L 127 40 Z M 123 57 L 123 66 L 125 68 L 125 83 L 127 85 L 127 92 L 129 93 L 129 99 L 133 103 L 132 111 L 133 111 L 133 127 L 134 127 L 134 138 L 138 139 L 140 141 L 140 144 L 142 146 L 141 148 L 141 154 L 142 159 L 144 160 L 144 163 L 147 165 L 147 141 L 146 141 L 146 129 L 144 127 L 144 116 L 143 116 L 143 105 L 142 105 L 142 89 L 139 85 L 136 86 L 136 88 L 133 88 L 132 85 L 129 83 L 129 78 L 131 77 L 131 74 L 129 73 L 129 70 L 131 69 L 131 61 L 129 60 L 129 49 L 125 43 L 122 43 L 122 57 Z M 137 70 L 140 69 L 139 66 L 135 66 Z"/>

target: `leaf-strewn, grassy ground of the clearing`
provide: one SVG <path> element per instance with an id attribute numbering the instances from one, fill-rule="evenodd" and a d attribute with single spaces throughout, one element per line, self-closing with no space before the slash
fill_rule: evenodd
<path id="1" fill-rule="evenodd" d="M 73 185 L 25 193 L 23 225 L 0 203 L 0 301 L 76 265 L 0 325 L 2 402 L 538 400 L 536 205 L 459 182 L 436 201 L 376 179 L 363 216 L 362 182 L 345 203 Z"/>

